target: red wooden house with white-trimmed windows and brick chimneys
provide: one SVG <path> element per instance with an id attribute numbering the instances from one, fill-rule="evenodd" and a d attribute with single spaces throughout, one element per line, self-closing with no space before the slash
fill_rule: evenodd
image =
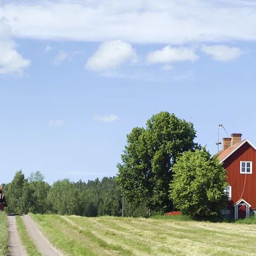
<path id="1" fill-rule="evenodd" d="M 256 213 L 256 146 L 241 138 L 241 133 L 223 138 L 223 150 L 218 153 L 219 162 L 228 173 L 229 207 L 225 213 L 234 219 Z"/>

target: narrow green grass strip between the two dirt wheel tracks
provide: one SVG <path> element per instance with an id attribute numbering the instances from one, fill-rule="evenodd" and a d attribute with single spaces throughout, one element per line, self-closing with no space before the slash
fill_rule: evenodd
<path id="1" fill-rule="evenodd" d="M 38 251 L 36 245 L 29 237 L 21 216 L 16 216 L 16 222 L 18 227 L 18 234 L 21 238 L 23 245 L 26 247 L 27 254 L 29 256 L 41 256 L 41 253 Z"/>

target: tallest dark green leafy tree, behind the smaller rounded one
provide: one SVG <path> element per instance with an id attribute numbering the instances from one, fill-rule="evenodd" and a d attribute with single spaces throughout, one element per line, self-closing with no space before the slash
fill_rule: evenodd
<path id="1" fill-rule="evenodd" d="M 133 128 L 117 165 L 116 180 L 124 197 L 151 210 L 172 210 L 172 167 L 178 155 L 197 148 L 195 137 L 192 123 L 168 112 L 153 115 L 146 128 Z"/>

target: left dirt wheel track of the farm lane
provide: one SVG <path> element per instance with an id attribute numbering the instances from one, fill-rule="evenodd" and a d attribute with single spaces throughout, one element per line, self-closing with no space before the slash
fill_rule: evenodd
<path id="1" fill-rule="evenodd" d="M 8 231 L 9 231 L 9 256 L 27 256 L 27 252 L 21 243 L 18 235 L 15 215 L 8 215 Z"/>

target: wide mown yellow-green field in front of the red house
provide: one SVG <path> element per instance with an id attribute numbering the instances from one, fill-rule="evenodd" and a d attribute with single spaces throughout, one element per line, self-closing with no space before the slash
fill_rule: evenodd
<path id="1" fill-rule="evenodd" d="M 256 255 L 256 225 L 176 218 L 32 215 L 55 247 L 69 255 Z"/>

